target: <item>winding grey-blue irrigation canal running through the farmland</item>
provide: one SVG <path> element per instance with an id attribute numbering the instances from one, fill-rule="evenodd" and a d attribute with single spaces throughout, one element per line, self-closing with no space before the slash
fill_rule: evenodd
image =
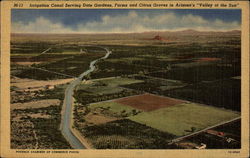
<path id="1" fill-rule="evenodd" d="M 72 148 L 74 149 L 85 149 L 86 147 L 78 140 L 78 138 L 72 133 L 71 131 L 71 118 L 72 118 L 72 97 L 73 97 L 73 91 L 76 85 L 80 84 L 83 77 L 88 75 L 89 73 L 93 72 L 95 70 L 95 63 L 98 62 L 99 60 L 106 59 L 109 57 L 111 54 L 111 51 L 109 51 L 107 48 L 104 47 L 99 47 L 104 49 L 107 53 L 104 57 L 93 60 L 90 65 L 89 69 L 85 72 L 83 72 L 78 78 L 70 82 L 68 87 L 66 88 L 65 91 L 65 97 L 64 97 L 64 102 L 63 102 L 63 112 L 62 112 L 62 120 L 61 120 L 61 125 L 60 129 L 65 137 L 65 139 L 70 143 Z"/>

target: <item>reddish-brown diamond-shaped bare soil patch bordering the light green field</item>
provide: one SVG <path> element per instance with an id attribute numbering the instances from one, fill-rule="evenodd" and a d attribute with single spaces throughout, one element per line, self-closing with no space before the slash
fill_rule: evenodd
<path id="1" fill-rule="evenodd" d="M 184 103 L 182 100 L 169 97 L 156 96 L 152 94 L 137 95 L 122 99 L 117 99 L 115 102 L 132 106 L 144 111 L 152 111 L 163 107 L 173 106 Z"/>

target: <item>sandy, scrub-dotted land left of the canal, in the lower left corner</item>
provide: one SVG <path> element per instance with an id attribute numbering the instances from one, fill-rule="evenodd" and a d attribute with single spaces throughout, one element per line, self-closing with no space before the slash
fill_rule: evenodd
<path id="1" fill-rule="evenodd" d="M 59 130 L 65 83 L 71 80 L 11 79 L 11 148 L 71 148 Z M 49 83 L 56 87 L 43 88 Z"/>

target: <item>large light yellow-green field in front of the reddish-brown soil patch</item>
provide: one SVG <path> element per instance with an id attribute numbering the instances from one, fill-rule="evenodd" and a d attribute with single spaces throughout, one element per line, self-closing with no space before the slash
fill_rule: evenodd
<path id="1" fill-rule="evenodd" d="M 182 136 L 238 116 L 239 113 L 230 110 L 190 103 L 143 112 L 129 119 L 160 131 Z"/>

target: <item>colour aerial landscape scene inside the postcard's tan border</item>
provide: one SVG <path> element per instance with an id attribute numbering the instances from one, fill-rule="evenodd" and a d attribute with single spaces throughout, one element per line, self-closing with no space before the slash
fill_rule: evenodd
<path id="1" fill-rule="evenodd" d="M 241 149 L 240 9 L 12 9 L 11 149 Z"/>

